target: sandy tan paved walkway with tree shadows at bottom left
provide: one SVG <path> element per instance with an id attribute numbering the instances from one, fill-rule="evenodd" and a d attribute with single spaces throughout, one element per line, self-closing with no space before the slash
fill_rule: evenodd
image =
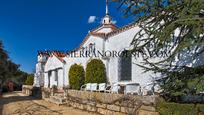
<path id="1" fill-rule="evenodd" d="M 6 93 L 0 98 L 0 115 L 92 115 L 93 113 L 58 106 L 25 96 L 21 92 Z"/>

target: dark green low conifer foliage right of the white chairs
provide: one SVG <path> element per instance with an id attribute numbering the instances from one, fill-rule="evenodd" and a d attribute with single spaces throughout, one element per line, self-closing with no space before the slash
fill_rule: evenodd
<path id="1" fill-rule="evenodd" d="M 197 95 L 204 91 L 204 65 L 195 68 L 185 67 L 182 70 L 169 72 L 163 78 L 161 87 L 167 100 L 178 101 L 177 97 Z M 177 100 L 176 100 L 177 99 Z"/>

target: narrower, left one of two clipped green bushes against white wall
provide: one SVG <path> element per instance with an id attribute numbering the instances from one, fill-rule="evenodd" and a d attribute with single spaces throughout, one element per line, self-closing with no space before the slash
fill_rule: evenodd
<path id="1" fill-rule="evenodd" d="M 70 88 L 79 90 L 84 84 L 85 72 L 81 65 L 74 64 L 69 70 L 69 84 Z"/>

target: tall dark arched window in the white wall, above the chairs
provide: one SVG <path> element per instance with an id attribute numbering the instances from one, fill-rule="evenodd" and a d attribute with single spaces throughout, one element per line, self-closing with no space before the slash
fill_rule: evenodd
<path id="1" fill-rule="evenodd" d="M 132 56 L 129 51 L 124 50 L 119 58 L 119 81 L 132 80 Z"/>

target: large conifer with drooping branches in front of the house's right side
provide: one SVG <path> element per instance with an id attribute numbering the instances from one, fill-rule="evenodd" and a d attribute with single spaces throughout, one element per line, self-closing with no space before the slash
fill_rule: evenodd
<path id="1" fill-rule="evenodd" d="M 204 74 L 197 72 L 200 67 L 187 66 L 204 55 L 204 1 L 114 1 L 121 4 L 119 8 L 125 7 L 125 16 L 136 18 L 140 30 L 131 43 L 132 52 L 143 57 L 138 66 L 166 76 L 158 81 L 163 93 L 171 98 L 195 95 L 203 90 Z M 155 58 L 160 61 L 151 61 Z"/>

